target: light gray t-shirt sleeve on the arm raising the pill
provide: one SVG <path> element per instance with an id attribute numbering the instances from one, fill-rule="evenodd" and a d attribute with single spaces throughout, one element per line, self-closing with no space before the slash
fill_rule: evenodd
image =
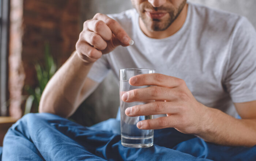
<path id="1" fill-rule="evenodd" d="M 94 62 L 87 77 L 91 80 L 101 83 L 102 80 L 108 75 L 109 71 L 110 67 L 107 55 L 103 54 L 101 58 Z"/>

